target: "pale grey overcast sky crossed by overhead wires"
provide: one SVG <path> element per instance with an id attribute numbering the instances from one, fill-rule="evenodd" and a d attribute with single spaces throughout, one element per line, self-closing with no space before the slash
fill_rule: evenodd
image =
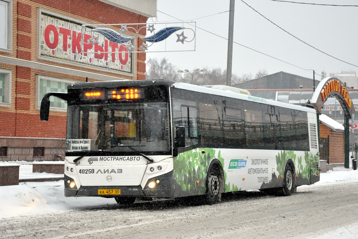
<path id="1" fill-rule="evenodd" d="M 272 0 L 244 1 L 263 16 L 311 46 L 358 66 L 358 7 L 307 5 Z M 358 5 L 357 0 L 292 1 Z M 166 57 L 169 62 L 182 70 L 203 67 L 226 69 L 229 12 L 221 12 L 229 10 L 229 0 L 158 0 L 157 10 L 157 18 L 150 18 L 148 21 L 178 21 L 175 18 L 180 20 L 200 18 L 194 20 L 197 26 L 196 50 L 189 52 L 153 52 L 147 53 L 147 58 Z M 208 16 L 211 14 L 217 15 Z M 203 16 L 208 17 L 201 18 Z M 162 27 L 164 26 L 158 25 L 156 29 Z M 189 26 L 186 25 L 185 27 Z M 179 34 L 180 32 L 176 33 Z M 190 35 L 190 31 L 185 30 L 184 34 Z M 166 40 L 167 49 L 174 47 L 179 50 L 190 46 L 190 44 L 191 48 L 189 48 L 193 49 L 194 42 L 182 44 L 175 42 L 176 39 L 176 35 L 173 34 Z M 295 39 L 260 16 L 241 0 L 235 1 L 234 42 L 295 65 L 292 66 L 234 43 L 232 72 L 238 75 L 243 73 L 255 75 L 260 69 L 267 70 L 269 74 L 285 71 L 310 78 L 313 78 L 312 71 L 303 69 L 313 69 L 319 75 L 322 71 L 325 71 L 327 76 L 329 76 L 329 73 L 341 71 L 358 72 L 358 67 L 329 57 Z M 163 50 L 163 48 L 159 49 L 159 44 L 158 46 L 155 45 L 148 50 Z M 318 75 L 315 77 L 319 80 L 321 78 Z"/>

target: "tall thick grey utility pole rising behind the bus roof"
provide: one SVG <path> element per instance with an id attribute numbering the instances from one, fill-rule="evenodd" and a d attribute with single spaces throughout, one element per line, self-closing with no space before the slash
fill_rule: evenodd
<path id="1" fill-rule="evenodd" d="M 228 35 L 228 42 L 227 42 L 227 67 L 226 67 L 226 85 L 227 86 L 231 86 L 232 44 L 234 41 L 234 10 L 235 10 L 235 0 L 230 0 L 229 35 Z"/>

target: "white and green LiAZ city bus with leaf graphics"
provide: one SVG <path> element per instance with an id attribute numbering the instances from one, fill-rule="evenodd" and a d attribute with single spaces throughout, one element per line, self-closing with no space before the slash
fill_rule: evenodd
<path id="1" fill-rule="evenodd" d="M 289 196 L 319 181 L 311 107 L 168 80 L 81 82 L 67 101 L 64 195 L 136 199 L 262 190 Z M 230 88 L 225 88 L 230 89 Z M 54 119 L 52 119 L 54 120 Z"/>

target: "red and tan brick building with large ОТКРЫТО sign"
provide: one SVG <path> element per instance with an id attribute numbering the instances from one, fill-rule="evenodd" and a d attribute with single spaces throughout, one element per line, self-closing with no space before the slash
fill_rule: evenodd
<path id="1" fill-rule="evenodd" d="M 0 0 L 0 161 L 56 160 L 64 153 L 66 102 L 51 99 L 49 121 L 41 122 L 45 93 L 66 92 L 86 77 L 145 79 L 145 53 L 101 53 L 126 49 L 105 39 L 93 44 L 82 24 L 145 23 L 155 15 L 156 0 Z M 89 43 L 83 54 L 82 34 Z M 141 43 L 131 42 L 137 51 Z"/>

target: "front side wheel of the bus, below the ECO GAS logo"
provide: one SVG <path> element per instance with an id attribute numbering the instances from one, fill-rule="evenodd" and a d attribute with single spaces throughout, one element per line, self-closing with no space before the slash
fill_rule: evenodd
<path id="1" fill-rule="evenodd" d="M 210 167 L 207 180 L 206 180 L 206 193 L 204 195 L 205 203 L 208 205 L 215 204 L 221 194 L 221 185 L 220 183 L 220 171 L 215 165 Z"/>

